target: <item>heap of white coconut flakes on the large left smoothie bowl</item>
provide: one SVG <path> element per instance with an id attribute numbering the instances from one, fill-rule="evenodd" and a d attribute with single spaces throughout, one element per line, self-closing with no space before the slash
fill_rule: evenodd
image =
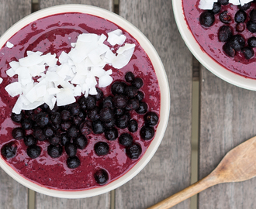
<path id="1" fill-rule="evenodd" d="M 108 33 L 108 38 L 104 34 L 80 34 L 77 42 L 71 43 L 70 52 L 62 52 L 58 58 L 56 54 L 27 51 L 26 57 L 10 62 L 11 68 L 6 71 L 9 77 L 18 75 L 18 81 L 5 87 L 12 97 L 19 95 L 12 112 L 19 114 L 43 103 L 52 109 L 55 104 L 74 103 L 76 96 L 97 94 L 97 81 L 99 87 L 107 87 L 113 81 L 112 70 L 104 70 L 107 64 L 121 69 L 130 62 L 135 44 L 122 46 L 125 40 L 126 36 L 117 29 Z M 116 53 L 105 41 L 120 46 Z M 35 81 L 35 77 L 39 78 Z"/>

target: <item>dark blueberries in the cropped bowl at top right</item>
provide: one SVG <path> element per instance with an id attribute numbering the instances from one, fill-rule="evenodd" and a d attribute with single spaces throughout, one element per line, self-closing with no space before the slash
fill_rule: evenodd
<path id="1" fill-rule="evenodd" d="M 200 24 L 206 28 L 213 26 L 213 23 L 215 22 L 215 15 L 220 13 L 222 5 L 227 4 L 228 0 L 218 0 L 218 2 L 215 2 L 212 10 L 206 10 L 201 13 L 199 17 Z M 221 12 L 219 15 L 220 21 L 225 25 L 220 27 L 218 38 L 220 42 L 224 42 L 223 51 L 229 57 L 234 57 L 238 51 L 241 51 L 247 60 L 254 57 L 253 48 L 256 47 L 256 38 L 252 36 L 247 39 L 246 43 L 244 37 L 238 34 L 244 32 L 245 29 L 251 33 L 256 33 L 256 9 L 252 9 L 249 17 L 247 18 L 246 11 L 250 7 L 251 2 L 244 4 L 243 6 L 239 5 L 234 17 L 232 17 L 227 10 Z M 236 22 L 235 28 L 230 26 L 232 18 L 234 18 L 234 22 Z M 234 35 L 234 31 L 236 31 L 237 34 Z"/>

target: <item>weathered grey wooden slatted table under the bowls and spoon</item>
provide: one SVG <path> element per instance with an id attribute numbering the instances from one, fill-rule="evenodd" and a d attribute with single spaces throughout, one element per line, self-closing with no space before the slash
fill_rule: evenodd
<path id="1" fill-rule="evenodd" d="M 171 91 L 168 128 L 161 146 L 144 170 L 123 187 L 98 197 L 67 200 L 36 194 L 35 205 L 29 205 L 29 190 L 0 170 L 1 208 L 140 209 L 188 187 L 192 153 L 193 57 L 178 33 L 171 0 L 119 0 L 119 8 L 114 7 L 112 0 L 40 0 L 36 5 L 31 0 L 0 0 L 0 33 L 36 9 L 67 3 L 95 5 L 116 12 L 150 39 L 168 74 Z M 256 100 L 253 91 L 234 87 L 204 67 L 199 68 L 201 179 L 213 170 L 230 149 L 256 135 Z M 255 192 L 256 179 L 212 187 L 199 194 L 199 209 L 256 208 Z M 190 200 L 174 208 L 190 208 Z"/>

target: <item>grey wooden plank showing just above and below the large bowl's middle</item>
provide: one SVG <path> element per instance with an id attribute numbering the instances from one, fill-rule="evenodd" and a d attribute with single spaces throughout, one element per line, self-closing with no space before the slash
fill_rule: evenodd
<path id="1" fill-rule="evenodd" d="M 61 5 L 61 4 L 87 4 L 87 5 L 95 5 L 104 9 L 108 9 L 113 11 L 113 1 L 112 0 L 81 0 L 81 1 L 65 1 L 65 0 L 40 0 L 40 9 L 47 8 L 53 5 Z M 48 208 L 76 208 L 76 209 L 84 209 L 84 208 L 109 208 L 110 207 L 110 193 L 102 194 L 97 197 L 89 197 L 84 199 L 61 199 L 55 197 L 49 197 L 43 194 L 36 194 L 36 209 L 48 209 Z"/>

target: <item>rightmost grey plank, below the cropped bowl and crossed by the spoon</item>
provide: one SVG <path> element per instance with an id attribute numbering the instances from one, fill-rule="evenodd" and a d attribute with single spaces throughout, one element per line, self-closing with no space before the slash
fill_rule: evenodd
<path id="1" fill-rule="evenodd" d="M 199 179 L 235 146 L 256 135 L 256 92 L 222 81 L 202 67 Z M 256 179 L 224 183 L 199 194 L 199 209 L 256 208 Z"/>

